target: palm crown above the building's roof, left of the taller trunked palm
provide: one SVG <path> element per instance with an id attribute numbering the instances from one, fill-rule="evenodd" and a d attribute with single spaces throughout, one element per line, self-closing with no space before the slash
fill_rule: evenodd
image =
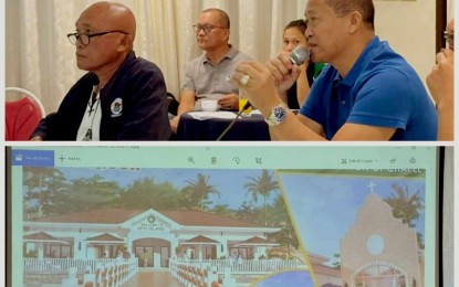
<path id="1" fill-rule="evenodd" d="M 210 176 L 205 176 L 198 173 L 196 180 L 186 180 L 188 184 L 182 189 L 187 195 L 188 204 L 192 206 L 198 206 L 199 210 L 205 210 L 206 205 L 210 202 L 208 201 L 210 194 L 217 194 L 220 196 L 220 192 L 216 189 L 215 185 L 210 185 L 209 182 Z M 187 206 L 189 208 L 189 206 Z"/>

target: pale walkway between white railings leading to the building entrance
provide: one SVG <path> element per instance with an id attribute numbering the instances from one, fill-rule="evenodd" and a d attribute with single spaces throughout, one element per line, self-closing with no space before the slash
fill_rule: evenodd
<path id="1" fill-rule="evenodd" d="M 153 268 L 139 268 L 133 278 L 123 284 L 123 287 L 143 286 L 182 287 L 184 285 L 174 278 L 168 269 L 160 270 Z"/>

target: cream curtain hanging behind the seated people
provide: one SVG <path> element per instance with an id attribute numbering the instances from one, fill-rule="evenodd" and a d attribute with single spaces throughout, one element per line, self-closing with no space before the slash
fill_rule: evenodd
<path id="1" fill-rule="evenodd" d="M 6 86 L 34 93 L 54 111 L 85 73 L 76 67 L 75 46 L 66 34 L 94 0 L 6 0 Z M 283 26 L 303 18 L 304 0 L 118 0 L 137 20 L 134 50 L 159 66 L 167 89 L 178 97 L 188 61 L 198 56 L 195 24 L 207 8 L 231 20 L 230 43 L 267 62 L 281 49 Z"/>

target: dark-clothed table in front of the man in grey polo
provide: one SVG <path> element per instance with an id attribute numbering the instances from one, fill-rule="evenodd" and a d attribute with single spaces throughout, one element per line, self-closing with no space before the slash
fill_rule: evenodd
<path id="1" fill-rule="evenodd" d="M 216 141 L 236 118 L 236 111 L 190 111 L 182 114 L 177 127 L 177 140 Z M 270 140 L 263 116 L 252 111 L 236 119 L 221 140 Z"/>

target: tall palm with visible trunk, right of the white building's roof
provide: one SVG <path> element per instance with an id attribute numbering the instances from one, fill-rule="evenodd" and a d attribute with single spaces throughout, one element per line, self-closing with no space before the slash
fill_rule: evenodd
<path id="1" fill-rule="evenodd" d="M 264 226 L 268 225 L 267 222 L 267 199 L 270 195 L 271 191 L 279 189 L 278 181 L 272 179 L 273 173 L 269 173 L 268 170 L 262 170 L 261 177 L 247 177 L 250 181 L 243 184 L 243 188 L 247 189 L 246 196 L 250 193 L 254 202 L 258 202 L 258 196 L 263 196 L 263 210 L 264 210 Z"/>

